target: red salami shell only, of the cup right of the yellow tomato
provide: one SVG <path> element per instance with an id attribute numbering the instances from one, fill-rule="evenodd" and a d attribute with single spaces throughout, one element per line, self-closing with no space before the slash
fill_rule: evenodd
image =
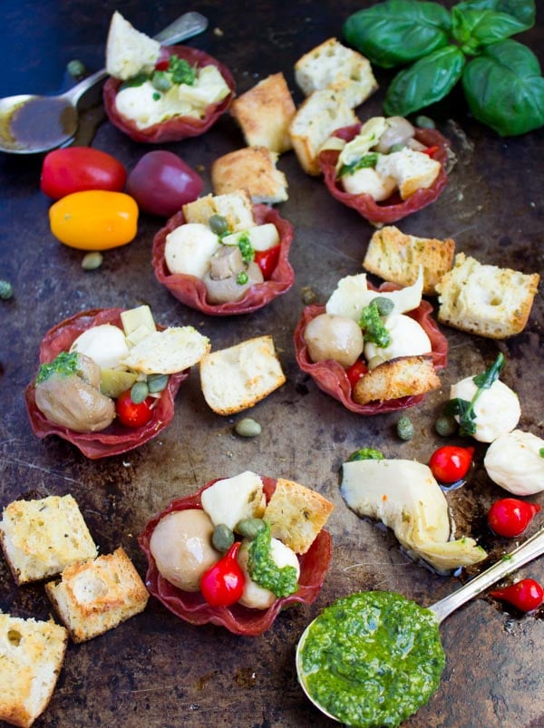
<path id="1" fill-rule="evenodd" d="M 172 230 L 185 224 L 183 212 L 177 212 L 161 228 L 153 239 L 152 263 L 157 280 L 186 306 L 196 308 L 209 315 L 249 314 L 258 308 L 267 306 L 270 301 L 287 293 L 295 282 L 295 272 L 289 263 L 289 248 L 293 240 L 293 226 L 280 217 L 276 209 L 267 205 L 255 205 L 254 213 L 257 225 L 273 223 L 279 234 L 279 257 L 277 266 L 271 277 L 263 283 L 248 288 L 246 294 L 238 301 L 223 304 L 210 304 L 206 297 L 206 286 L 200 278 L 180 273 L 170 273 L 164 258 L 166 238 Z"/>

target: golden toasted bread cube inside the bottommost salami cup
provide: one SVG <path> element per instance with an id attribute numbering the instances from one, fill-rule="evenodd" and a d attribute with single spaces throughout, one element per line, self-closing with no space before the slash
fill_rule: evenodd
<path id="1" fill-rule="evenodd" d="M 316 490 L 278 478 L 264 519 L 270 524 L 274 539 L 283 541 L 297 554 L 306 554 L 334 508 Z"/>

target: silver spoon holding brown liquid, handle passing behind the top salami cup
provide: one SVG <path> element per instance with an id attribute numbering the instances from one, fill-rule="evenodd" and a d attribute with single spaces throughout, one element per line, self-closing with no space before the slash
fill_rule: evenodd
<path id="1" fill-rule="evenodd" d="M 155 40 L 171 45 L 202 33 L 207 27 L 204 15 L 184 13 L 155 35 Z M 92 73 L 58 96 L 26 93 L 0 99 L 0 151 L 38 154 L 66 144 L 78 128 L 77 102 L 107 75 L 105 69 Z"/>

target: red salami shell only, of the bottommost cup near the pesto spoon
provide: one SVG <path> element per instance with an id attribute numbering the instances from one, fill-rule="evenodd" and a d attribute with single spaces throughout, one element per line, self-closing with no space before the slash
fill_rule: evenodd
<path id="1" fill-rule="evenodd" d="M 267 500 L 276 489 L 276 480 L 261 476 Z M 192 625 L 213 624 L 224 626 L 229 632 L 241 636 L 258 636 L 269 629 L 277 615 L 291 604 L 311 604 L 319 594 L 332 554 L 332 539 L 325 529 L 319 531 L 311 547 L 303 555 L 298 555 L 300 577 L 298 589 L 288 597 L 277 598 L 267 609 L 253 609 L 234 604 L 230 607 L 211 607 L 199 591 L 183 591 L 170 584 L 160 572 L 151 555 L 150 541 L 153 530 L 160 519 L 179 510 L 202 509 L 201 495 L 217 480 L 210 480 L 198 492 L 185 498 L 170 502 L 165 510 L 153 516 L 138 537 L 141 549 L 148 559 L 146 587 L 153 597 Z"/>

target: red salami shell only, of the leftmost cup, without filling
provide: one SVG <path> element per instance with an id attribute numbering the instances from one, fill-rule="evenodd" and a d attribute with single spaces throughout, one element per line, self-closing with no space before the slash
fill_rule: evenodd
<path id="1" fill-rule="evenodd" d="M 48 364 L 58 354 L 67 352 L 73 341 L 92 326 L 111 324 L 122 329 L 121 308 L 103 308 L 83 311 L 53 326 L 44 336 L 40 345 L 39 363 Z M 72 442 L 87 458 L 97 460 L 110 455 L 119 455 L 140 447 L 144 442 L 156 437 L 174 416 L 174 398 L 180 384 L 189 375 L 189 371 L 170 374 L 166 388 L 160 394 L 157 405 L 152 411 L 150 422 L 141 427 L 128 428 L 114 420 L 105 430 L 100 432 L 73 432 L 54 422 L 50 422 L 40 412 L 35 402 L 35 377 L 24 390 L 24 400 L 34 434 L 40 439 L 48 435 Z"/>

